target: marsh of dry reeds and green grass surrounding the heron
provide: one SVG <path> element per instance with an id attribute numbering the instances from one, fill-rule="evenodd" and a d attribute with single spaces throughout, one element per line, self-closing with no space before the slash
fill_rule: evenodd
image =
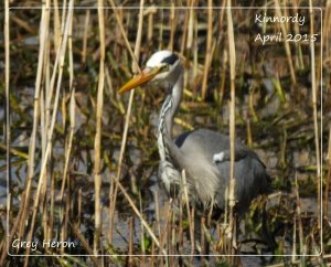
<path id="1" fill-rule="evenodd" d="M 8 236 L 0 246 L 1 266 L 236 265 L 243 260 L 236 255 L 264 253 L 290 257 L 257 258 L 255 264 L 330 260 L 331 131 L 321 128 L 319 98 L 330 98 L 330 4 L 317 42 L 266 46 L 254 42 L 257 33 L 321 34 L 318 11 L 280 9 L 285 2 L 278 0 L 245 11 L 212 9 L 213 1 L 197 10 L 201 3 L 195 0 L 185 9 L 171 2 L 163 10 L 143 0 L 132 10 L 114 0 L 100 0 L 95 9 L 79 9 L 73 0 L 46 0 L 41 10 L 10 12 L 9 1 L 4 4 L 1 97 L 7 127 L 0 147 L 7 152 L 0 168 L 1 173 L 7 168 L 9 194 L 1 209 L 9 221 L 7 226 L 2 221 Z M 302 12 L 310 22 L 303 28 L 276 23 L 256 29 L 249 18 L 264 11 Z M 33 33 L 32 47 L 26 40 Z M 119 96 L 116 89 L 161 49 L 178 52 L 186 71 L 175 134 L 199 127 L 228 132 L 232 159 L 234 140 L 245 140 L 273 177 L 275 193 L 255 200 L 241 225 L 235 223 L 233 169 L 228 206 L 217 218 L 213 206 L 202 213 L 191 205 L 184 171 L 179 195 L 169 199 L 152 189 L 158 168 L 153 117 L 164 92 L 137 89 Z M 325 100 L 328 115 L 331 106 Z M 324 116 L 328 124 L 330 117 Z M 307 197 L 318 209 L 323 202 L 323 216 L 307 207 Z M 34 252 L 11 247 L 17 238 L 73 241 L 77 246 L 40 245 Z M 25 257 L 9 257 L 7 248 Z M 61 257 L 30 257 L 35 254 Z M 113 256 L 100 257 L 105 254 Z M 224 256 L 229 254 L 234 256 Z"/>

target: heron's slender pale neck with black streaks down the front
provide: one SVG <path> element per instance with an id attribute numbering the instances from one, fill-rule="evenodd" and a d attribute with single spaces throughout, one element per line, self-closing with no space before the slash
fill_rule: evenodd
<path id="1" fill-rule="evenodd" d="M 161 161 L 169 161 L 169 148 L 167 143 L 172 141 L 172 124 L 173 117 L 182 98 L 183 78 L 180 75 L 179 79 L 172 87 L 171 94 L 166 98 L 162 105 L 159 128 L 158 128 L 158 146 Z"/>

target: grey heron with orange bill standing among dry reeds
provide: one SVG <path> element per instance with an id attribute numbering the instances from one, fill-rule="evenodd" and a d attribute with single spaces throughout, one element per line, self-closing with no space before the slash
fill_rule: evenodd
<path id="1" fill-rule="evenodd" d="M 185 170 L 190 197 L 195 203 L 225 207 L 229 183 L 229 137 L 209 129 L 196 129 L 172 138 L 173 118 L 182 99 L 184 68 L 177 54 L 159 51 L 152 54 L 146 68 L 118 92 L 125 93 L 148 82 L 159 81 L 169 88 L 159 117 L 159 177 L 168 192 L 181 184 Z M 246 210 L 258 194 L 266 193 L 269 177 L 258 156 L 242 142 L 235 142 L 234 177 L 236 210 Z"/>

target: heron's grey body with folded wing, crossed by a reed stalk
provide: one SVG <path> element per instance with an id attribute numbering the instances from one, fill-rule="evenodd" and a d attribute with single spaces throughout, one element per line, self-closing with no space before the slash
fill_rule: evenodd
<path id="1" fill-rule="evenodd" d="M 213 199 L 224 207 L 225 189 L 229 181 L 229 138 L 225 135 L 199 129 L 185 132 L 175 140 L 174 162 L 185 169 L 188 178 L 195 183 L 203 200 Z M 221 160 L 215 156 L 223 153 Z M 257 154 L 241 142 L 235 145 L 235 170 L 237 207 L 243 210 L 256 195 L 264 192 L 268 175 Z M 243 207 L 243 209 L 242 209 Z"/>

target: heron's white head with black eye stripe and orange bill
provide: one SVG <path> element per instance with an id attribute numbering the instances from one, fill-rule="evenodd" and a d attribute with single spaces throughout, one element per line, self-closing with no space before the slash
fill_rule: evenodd
<path id="1" fill-rule="evenodd" d="M 183 73 L 179 57 L 167 50 L 158 51 L 146 63 L 146 68 L 126 83 L 118 92 L 125 93 L 148 82 L 163 82 L 167 85 L 174 85 Z"/>

